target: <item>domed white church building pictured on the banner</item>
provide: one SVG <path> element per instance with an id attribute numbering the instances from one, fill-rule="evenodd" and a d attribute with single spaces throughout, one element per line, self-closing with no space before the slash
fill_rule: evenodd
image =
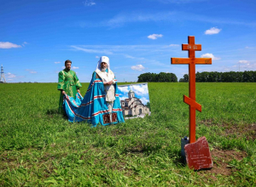
<path id="1" fill-rule="evenodd" d="M 128 93 L 128 99 L 120 102 L 124 116 L 143 116 L 150 112 L 148 106 L 143 105 L 141 99 L 137 99 L 132 90 Z"/>

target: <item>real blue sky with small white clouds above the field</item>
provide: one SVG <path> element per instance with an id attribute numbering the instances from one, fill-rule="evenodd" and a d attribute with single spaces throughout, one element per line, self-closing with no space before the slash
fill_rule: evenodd
<path id="1" fill-rule="evenodd" d="M 181 44 L 195 36 L 195 71 L 256 71 L 255 0 L 0 0 L 0 65 L 7 82 L 58 82 L 66 59 L 90 82 L 108 56 L 118 82 L 188 65 Z"/>

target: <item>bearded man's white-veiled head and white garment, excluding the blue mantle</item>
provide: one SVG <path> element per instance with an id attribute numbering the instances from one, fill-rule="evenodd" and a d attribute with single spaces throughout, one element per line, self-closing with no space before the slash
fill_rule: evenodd
<path id="1" fill-rule="evenodd" d="M 102 82 L 104 84 L 104 89 L 106 92 L 106 101 L 108 104 L 108 111 L 110 113 L 110 121 L 112 122 L 112 109 L 113 109 L 113 101 L 115 100 L 115 89 L 113 84 L 114 74 L 113 71 L 110 70 L 109 59 L 107 56 L 102 56 L 98 61 L 96 66 L 96 77 L 102 78 Z"/>

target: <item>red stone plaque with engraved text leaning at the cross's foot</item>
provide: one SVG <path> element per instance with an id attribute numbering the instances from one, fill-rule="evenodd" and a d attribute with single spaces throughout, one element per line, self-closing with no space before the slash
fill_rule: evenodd
<path id="1" fill-rule="evenodd" d="M 190 169 L 212 168 L 212 156 L 206 137 L 197 139 L 195 143 L 185 145 L 186 161 Z"/>

